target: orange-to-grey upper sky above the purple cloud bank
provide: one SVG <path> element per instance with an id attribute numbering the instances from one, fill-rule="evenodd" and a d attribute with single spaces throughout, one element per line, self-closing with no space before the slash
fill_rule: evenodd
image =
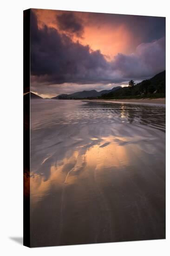
<path id="1" fill-rule="evenodd" d="M 59 32 L 72 36 L 74 41 L 78 39 L 81 44 L 88 44 L 93 50 L 100 49 L 108 59 L 118 53 L 131 54 L 139 44 L 165 36 L 165 18 L 163 17 L 42 9 L 33 9 L 33 12 L 38 17 L 39 27 L 46 25 L 56 28 Z M 78 23 L 76 27 L 79 27 L 80 34 L 83 29 L 83 37 L 73 33 L 75 26 L 72 26 L 70 19 L 66 18 L 70 14 L 73 17 L 73 24 Z M 73 29 L 70 29 L 70 32 L 68 29 L 60 30 L 56 16 L 62 17 L 61 27 L 65 29 L 73 27 Z"/>

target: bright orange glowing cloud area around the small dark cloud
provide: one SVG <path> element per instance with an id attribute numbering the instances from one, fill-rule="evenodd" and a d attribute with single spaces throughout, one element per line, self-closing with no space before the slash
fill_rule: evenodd
<path id="1" fill-rule="evenodd" d="M 65 11 L 43 9 L 34 9 L 33 11 L 37 15 L 39 27 L 46 25 L 58 30 L 60 29 L 56 17 L 66 13 Z M 89 45 L 92 50 L 100 50 L 107 60 L 112 59 L 118 53 L 128 54 L 132 52 L 137 39 L 134 39 L 125 24 L 115 25 L 104 22 L 98 26 L 98 24 L 88 22 L 88 13 L 72 13 L 80 18 L 84 25 L 83 37 L 78 38 L 73 34 L 73 41 L 79 40 L 81 44 Z"/>

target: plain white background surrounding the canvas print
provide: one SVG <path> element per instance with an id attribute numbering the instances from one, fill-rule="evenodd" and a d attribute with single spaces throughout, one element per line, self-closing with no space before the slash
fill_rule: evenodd
<path id="1" fill-rule="evenodd" d="M 170 9 L 166 0 L 6 0 L 0 5 L 0 254 L 131 255 L 168 254 L 170 243 L 170 175 L 167 157 L 166 240 L 29 249 L 23 234 L 23 10 L 32 8 L 166 16 L 167 156 L 170 144 Z M 139 31 L 140 33 L 140 31 Z M 159 61 L 159 60 L 157 60 Z M 170 157 L 170 156 L 169 156 Z M 19 240 L 20 243 L 14 241 Z M 169 252 L 170 253 L 170 252 Z"/>

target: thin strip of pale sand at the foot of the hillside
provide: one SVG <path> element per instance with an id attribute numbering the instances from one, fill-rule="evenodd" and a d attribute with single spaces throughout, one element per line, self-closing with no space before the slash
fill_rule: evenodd
<path id="1" fill-rule="evenodd" d="M 101 102 L 108 102 L 108 103 L 130 103 L 130 104 L 147 104 L 147 105 L 162 105 L 165 106 L 166 99 L 165 98 L 157 98 L 157 99 L 124 99 L 124 100 L 83 100 L 83 101 L 101 101 Z"/>

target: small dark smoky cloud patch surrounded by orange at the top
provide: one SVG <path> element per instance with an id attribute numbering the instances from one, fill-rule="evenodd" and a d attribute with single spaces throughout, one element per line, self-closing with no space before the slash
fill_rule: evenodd
<path id="1" fill-rule="evenodd" d="M 84 33 L 82 20 L 75 16 L 74 13 L 62 13 L 57 15 L 56 19 L 60 30 L 71 34 L 76 34 L 78 37 L 81 37 Z"/>

